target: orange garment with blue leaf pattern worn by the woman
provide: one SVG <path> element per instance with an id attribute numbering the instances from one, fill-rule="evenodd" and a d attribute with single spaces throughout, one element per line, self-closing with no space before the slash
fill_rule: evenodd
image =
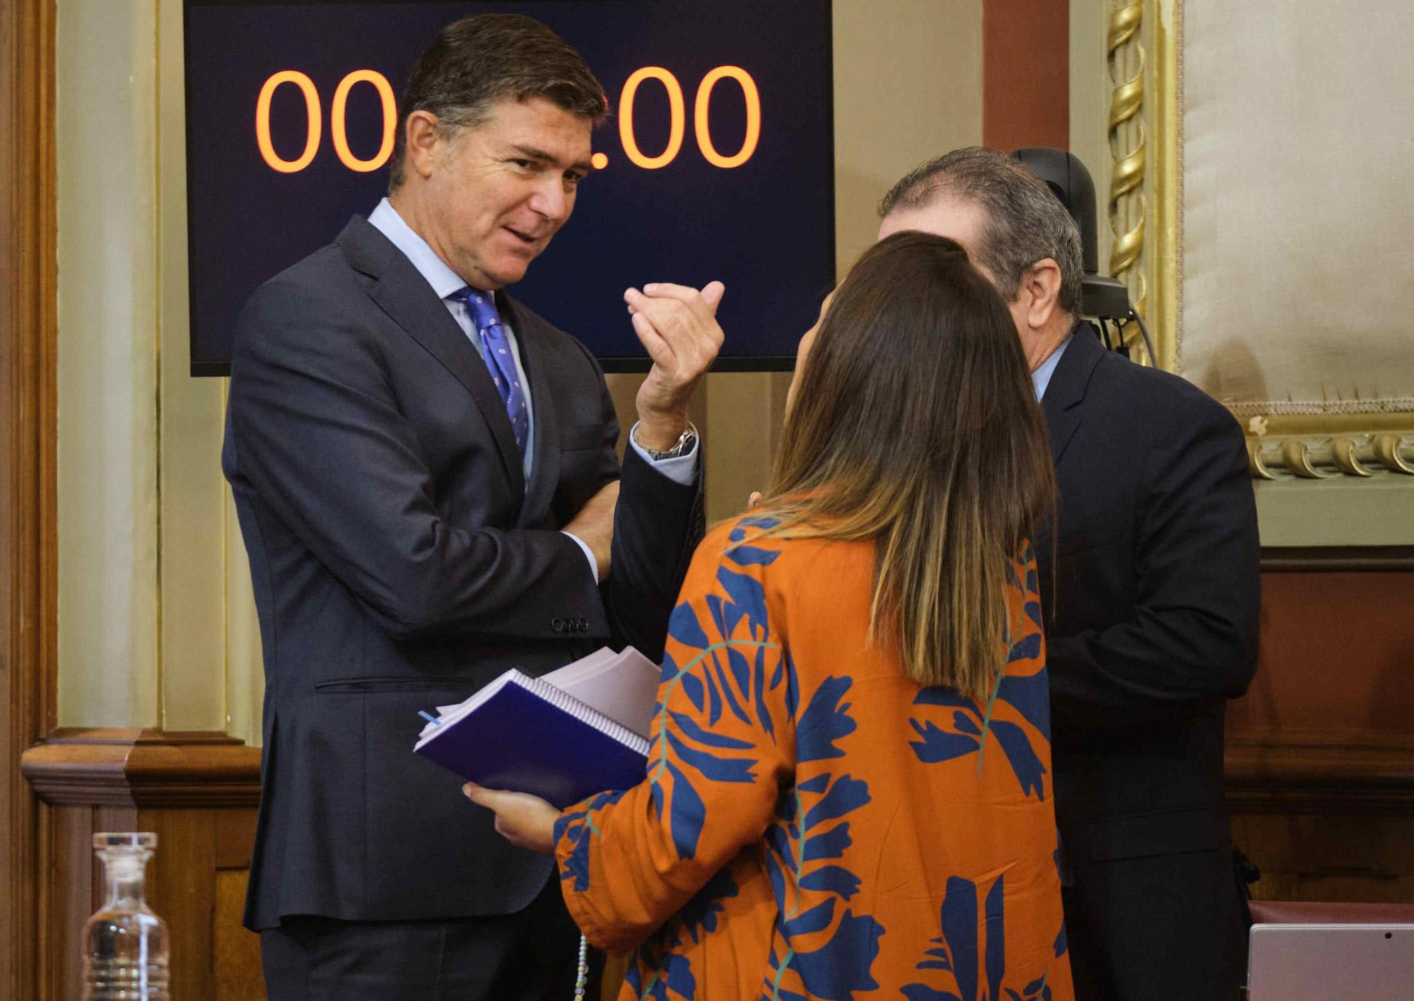
<path id="1" fill-rule="evenodd" d="M 1072 1001 L 1032 560 L 991 718 L 867 643 L 874 546 L 720 526 L 648 775 L 556 823 L 570 913 L 658 1001 Z"/>

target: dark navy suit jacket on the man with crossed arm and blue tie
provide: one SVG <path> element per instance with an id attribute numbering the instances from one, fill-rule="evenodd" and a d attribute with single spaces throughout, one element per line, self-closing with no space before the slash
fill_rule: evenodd
<path id="1" fill-rule="evenodd" d="M 605 642 L 662 650 L 701 536 L 635 450 L 588 351 L 509 295 L 534 407 L 529 485 L 486 366 L 427 281 L 354 218 L 240 317 L 222 467 L 266 666 L 246 925 L 509 913 L 553 861 L 413 755 L 419 710 Z M 560 526 L 622 476 L 600 587 Z"/>

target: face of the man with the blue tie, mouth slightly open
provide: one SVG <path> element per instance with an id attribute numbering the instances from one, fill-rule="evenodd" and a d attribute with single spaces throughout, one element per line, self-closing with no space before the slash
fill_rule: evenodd
<path id="1" fill-rule="evenodd" d="M 498 100 L 488 120 L 431 150 L 423 236 L 477 288 L 520 280 L 574 211 L 590 131 L 543 98 Z"/>

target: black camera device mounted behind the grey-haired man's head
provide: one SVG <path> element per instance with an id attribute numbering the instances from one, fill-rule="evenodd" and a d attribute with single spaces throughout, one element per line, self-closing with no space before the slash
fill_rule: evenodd
<path id="1" fill-rule="evenodd" d="M 1144 348 L 1148 351 L 1150 362 L 1158 365 L 1158 355 L 1154 353 L 1154 342 L 1150 341 L 1148 328 L 1144 327 L 1144 320 L 1130 304 L 1130 290 L 1121 281 L 1100 274 L 1094 182 L 1090 180 L 1090 171 L 1073 153 L 1049 146 L 1028 146 L 1024 150 L 1017 150 L 1011 157 L 1025 164 L 1051 188 L 1051 194 L 1060 199 L 1080 229 L 1080 262 L 1085 269 L 1080 279 L 1080 312 L 1099 322 L 1104 345 L 1114 351 L 1124 349 L 1121 331 L 1126 324 L 1137 322 L 1140 334 L 1144 335 Z M 1107 324 L 1114 324 L 1118 345 L 1110 344 Z"/>

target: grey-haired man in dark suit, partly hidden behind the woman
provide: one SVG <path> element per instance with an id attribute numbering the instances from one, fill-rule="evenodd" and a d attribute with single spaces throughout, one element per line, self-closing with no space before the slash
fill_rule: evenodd
<path id="1" fill-rule="evenodd" d="M 899 181 L 881 216 L 881 238 L 950 236 L 993 279 L 1051 433 L 1059 513 L 1036 557 L 1076 995 L 1237 997 L 1223 720 L 1256 669 L 1261 585 L 1241 430 L 1079 322 L 1079 232 L 1021 164 L 949 153 Z"/>

